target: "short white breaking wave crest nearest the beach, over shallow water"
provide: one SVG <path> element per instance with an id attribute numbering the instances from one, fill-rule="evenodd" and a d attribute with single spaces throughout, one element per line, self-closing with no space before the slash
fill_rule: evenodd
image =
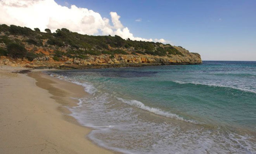
<path id="1" fill-rule="evenodd" d="M 148 107 L 148 106 L 144 105 L 142 102 L 137 101 L 137 100 L 125 100 L 125 99 L 119 98 L 119 97 L 116 97 L 116 98 L 119 101 L 123 102 L 123 103 L 131 105 L 133 107 L 140 108 L 140 109 L 148 111 L 148 112 L 155 113 L 156 115 L 162 115 L 164 117 L 173 118 L 173 119 L 176 119 L 176 120 L 182 120 L 182 121 L 185 121 L 185 122 L 190 122 L 190 123 L 198 124 L 194 120 L 186 120 L 183 117 L 180 117 L 180 116 L 178 116 L 176 114 L 173 114 L 173 113 L 170 113 L 170 112 L 167 112 L 167 111 L 163 111 L 163 110 L 161 110 L 159 108 Z"/>

